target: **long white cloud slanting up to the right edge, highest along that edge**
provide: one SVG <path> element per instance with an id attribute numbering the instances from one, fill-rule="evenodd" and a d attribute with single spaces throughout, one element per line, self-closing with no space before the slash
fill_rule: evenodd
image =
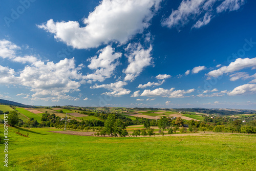
<path id="1" fill-rule="evenodd" d="M 231 73 L 234 71 L 240 71 L 245 68 L 256 69 L 256 57 L 255 58 L 238 58 L 236 61 L 231 62 L 229 66 L 223 66 L 218 70 L 210 71 L 207 75 L 208 77 L 219 77 L 225 73 Z"/>

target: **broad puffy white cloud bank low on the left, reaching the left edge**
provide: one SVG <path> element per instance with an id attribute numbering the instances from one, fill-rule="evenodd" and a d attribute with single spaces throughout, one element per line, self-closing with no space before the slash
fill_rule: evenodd
<path id="1" fill-rule="evenodd" d="M 83 76 L 79 73 L 81 68 L 75 66 L 75 60 L 63 59 L 58 63 L 36 61 L 31 66 L 16 73 L 13 69 L 0 66 L 1 83 L 22 85 L 31 89 L 34 93 L 32 100 L 60 99 L 76 100 L 77 98 L 67 95 L 73 91 L 79 91 L 79 80 Z M 19 74 L 19 75 L 18 75 Z"/>

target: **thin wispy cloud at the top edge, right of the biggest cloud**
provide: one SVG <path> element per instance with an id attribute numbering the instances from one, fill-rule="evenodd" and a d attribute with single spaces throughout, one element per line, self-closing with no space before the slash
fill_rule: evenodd
<path id="1" fill-rule="evenodd" d="M 200 28 L 209 24 L 215 13 L 235 11 L 244 4 L 244 0 L 225 0 L 220 5 L 219 0 L 183 0 L 178 9 L 172 10 L 170 16 L 162 21 L 162 25 L 179 30 L 190 20 L 197 20 L 192 28 Z"/>

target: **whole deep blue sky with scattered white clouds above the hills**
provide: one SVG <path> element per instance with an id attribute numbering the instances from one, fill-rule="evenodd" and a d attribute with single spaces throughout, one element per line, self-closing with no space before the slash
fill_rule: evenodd
<path id="1" fill-rule="evenodd" d="M 256 109 L 252 0 L 3 1 L 0 98 Z"/>

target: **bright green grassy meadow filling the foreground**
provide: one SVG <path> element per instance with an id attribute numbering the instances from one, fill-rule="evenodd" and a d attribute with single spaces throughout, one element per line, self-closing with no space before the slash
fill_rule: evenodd
<path id="1" fill-rule="evenodd" d="M 3 132 L 3 124 L 0 124 Z M 9 127 L 12 170 L 254 170 L 255 135 L 105 138 Z M 27 134 L 28 130 L 20 131 Z M 2 134 L 2 133 L 1 133 Z M 0 144 L 4 148 L 3 143 Z M 1 153 L 3 154 L 3 153 Z M 10 168 L 11 167 L 11 168 Z M 4 170 L 3 164 L 0 170 Z"/>

